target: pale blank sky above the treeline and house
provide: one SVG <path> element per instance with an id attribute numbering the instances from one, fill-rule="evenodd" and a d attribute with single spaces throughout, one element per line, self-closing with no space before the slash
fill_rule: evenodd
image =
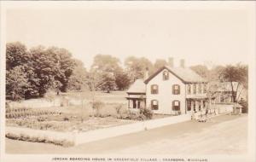
<path id="1" fill-rule="evenodd" d="M 89 68 L 97 54 L 187 67 L 247 63 L 248 14 L 240 9 L 8 9 L 6 41 L 68 49 Z"/>

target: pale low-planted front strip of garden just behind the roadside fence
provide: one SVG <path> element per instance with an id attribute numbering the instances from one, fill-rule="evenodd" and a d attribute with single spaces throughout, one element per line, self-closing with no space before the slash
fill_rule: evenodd
<path id="1" fill-rule="evenodd" d="M 80 119 L 66 119 L 59 117 L 30 117 L 30 118 L 20 118 L 20 119 L 7 119 L 6 126 L 15 126 L 30 128 L 35 130 L 55 130 L 55 131 L 89 131 L 97 130 L 101 128 L 117 126 L 120 124 L 131 124 L 136 121 L 127 119 L 114 119 L 113 117 L 107 118 L 97 118 L 90 117 L 84 121 Z"/>

